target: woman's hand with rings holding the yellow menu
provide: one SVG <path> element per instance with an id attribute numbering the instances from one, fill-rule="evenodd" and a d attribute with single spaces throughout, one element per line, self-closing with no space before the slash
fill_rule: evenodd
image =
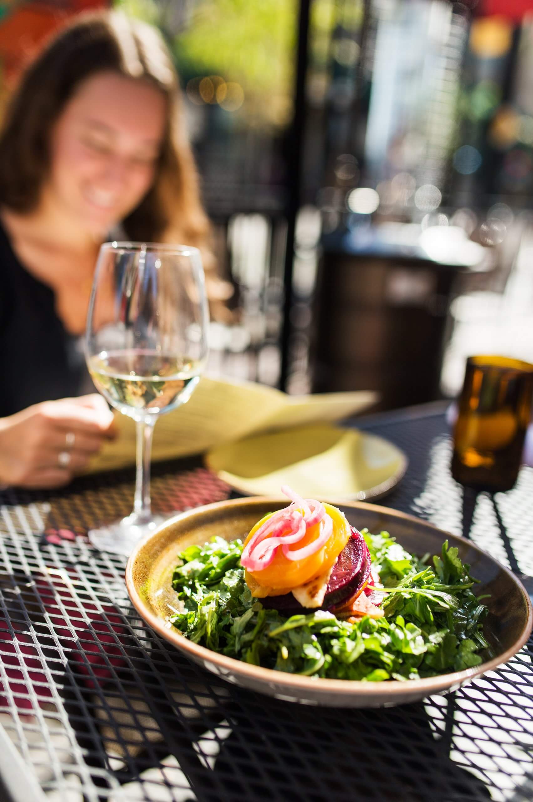
<path id="1" fill-rule="evenodd" d="M 0 484 L 61 487 L 114 437 L 101 395 L 34 404 L 0 419 Z"/>

